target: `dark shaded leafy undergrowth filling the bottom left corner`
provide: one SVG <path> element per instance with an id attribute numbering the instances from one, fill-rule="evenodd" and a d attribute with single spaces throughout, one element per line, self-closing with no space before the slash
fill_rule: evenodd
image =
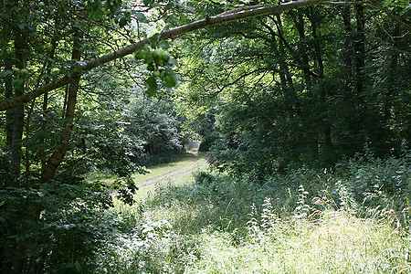
<path id="1" fill-rule="evenodd" d="M 102 184 L 58 182 L 2 189 L 2 272 L 89 272 L 90 255 L 115 227 L 105 213 L 109 192 Z"/>

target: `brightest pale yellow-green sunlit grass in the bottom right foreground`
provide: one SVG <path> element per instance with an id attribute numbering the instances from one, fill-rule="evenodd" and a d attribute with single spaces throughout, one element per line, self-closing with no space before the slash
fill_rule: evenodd
<path id="1" fill-rule="evenodd" d="M 204 253 L 186 273 L 409 273 L 407 243 L 387 223 L 329 212 L 320 223 L 284 221 L 233 245 L 203 233 Z"/>

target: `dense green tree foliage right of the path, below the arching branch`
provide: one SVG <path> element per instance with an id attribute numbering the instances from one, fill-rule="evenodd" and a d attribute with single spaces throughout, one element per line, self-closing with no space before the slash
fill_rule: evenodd
<path id="1" fill-rule="evenodd" d="M 410 37 L 387 33 L 406 34 L 407 23 L 398 10 L 365 12 L 364 47 L 379 49 L 364 54 L 360 73 L 353 68 L 359 24 L 343 21 L 357 7 L 236 22 L 181 43 L 179 70 L 190 80 L 178 89 L 180 108 L 206 147 L 212 141 L 210 163 L 264 176 L 286 166 L 330 167 L 367 150 L 381 158 L 406 153 Z M 197 129 L 207 115 L 215 118 L 212 134 Z"/>

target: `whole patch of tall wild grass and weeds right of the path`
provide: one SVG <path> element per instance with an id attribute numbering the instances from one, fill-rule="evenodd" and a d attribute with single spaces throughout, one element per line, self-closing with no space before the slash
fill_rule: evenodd
<path id="1" fill-rule="evenodd" d="M 200 173 L 195 184 L 163 186 L 139 205 L 117 205 L 129 229 L 100 253 L 100 270 L 410 273 L 411 172 L 390 161 L 262 182 Z"/>

